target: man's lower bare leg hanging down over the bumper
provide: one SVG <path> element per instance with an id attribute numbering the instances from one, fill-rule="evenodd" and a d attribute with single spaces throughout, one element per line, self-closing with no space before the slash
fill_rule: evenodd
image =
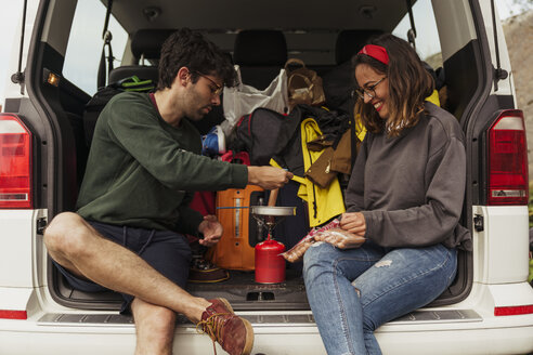
<path id="1" fill-rule="evenodd" d="M 131 312 L 135 320 L 135 355 L 171 355 L 176 313 L 169 308 L 134 299 Z"/>

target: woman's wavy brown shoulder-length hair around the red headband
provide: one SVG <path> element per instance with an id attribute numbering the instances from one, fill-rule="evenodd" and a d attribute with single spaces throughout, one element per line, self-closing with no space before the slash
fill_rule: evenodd
<path id="1" fill-rule="evenodd" d="M 352 58 L 353 73 L 360 64 L 367 64 L 376 71 L 387 76 L 389 118 L 384 120 L 370 104 L 356 97 L 354 114 L 359 114 L 368 132 L 386 131 L 388 136 L 398 136 L 405 128 L 414 127 L 424 111 L 424 101 L 434 89 L 433 78 L 424 67 L 418 54 L 410 43 L 392 35 L 382 35 L 370 41 L 387 50 L 389 64 L 366 55 L 356 54 Z"/>

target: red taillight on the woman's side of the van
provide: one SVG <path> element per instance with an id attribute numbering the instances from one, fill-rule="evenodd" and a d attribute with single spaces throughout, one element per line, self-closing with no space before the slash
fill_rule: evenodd
<path id="1" fill-rule="evenodd" d="M 504 110 L 489 130 L 487 205 L 528 205 L 528 146 L 523 114 Z"/>

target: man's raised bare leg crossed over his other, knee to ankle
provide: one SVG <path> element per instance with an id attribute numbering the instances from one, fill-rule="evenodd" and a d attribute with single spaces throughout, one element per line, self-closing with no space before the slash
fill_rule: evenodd
<path id="1" fill-rule="evenodd" d="M 210 303 L 187 293 L 130 250 L 102 237 L 81 216 L 56 215 L 44 232 L 47 249 L 58 264 L 112 290 L 200 320 Z"/>

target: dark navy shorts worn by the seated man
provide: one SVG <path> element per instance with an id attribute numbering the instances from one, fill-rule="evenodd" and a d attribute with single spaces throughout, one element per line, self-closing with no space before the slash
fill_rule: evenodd
<path id="1" fill-rule="evenodd" d="M 181 288 L 185 288 L 192 255 L 185 236 L 171 231 L 150 231 L 88 222 L 102 236 L 133 251 L 168 279 Z M 54 264 L 75 289 L 83 292 L 108 291 L 107 288 L 91 280 L 79 278 L 57 263 L 54 262 Z M 120 265 L 117 265 L 114 272 L 120 273 Z M 132 279 L 131 281 L 142 282 L 140 279 Z M 123 298 L 121 313 L 129 312 L 133 297 L 126 293 L 121 293 L 121 295 Z"/>

